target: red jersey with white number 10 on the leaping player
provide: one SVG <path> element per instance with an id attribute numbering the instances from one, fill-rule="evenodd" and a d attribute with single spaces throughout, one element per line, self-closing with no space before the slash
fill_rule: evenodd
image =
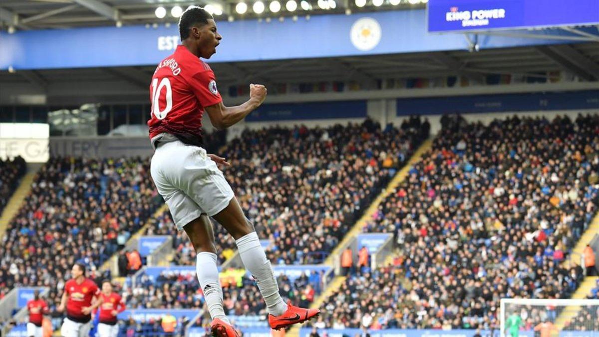
<path id="1" fill-rule="evenodd" d="M 202 137 L 204 107 L 220 103 L 216 77 L 185 46 L 156 67 L 150 83 L 150 139 L 161 133 Z"/>

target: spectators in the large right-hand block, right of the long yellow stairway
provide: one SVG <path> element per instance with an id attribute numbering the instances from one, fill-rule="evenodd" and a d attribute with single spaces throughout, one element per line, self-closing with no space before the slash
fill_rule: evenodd
<path id="1" fill-rule="evenodd" d="M 599 116 L 443 124 L 364 227 L 394 233 L 395 266 L 347 279 L 326 326 L 489 328 L 502 297 L 568 298 L 582 280 L 565 260 L 599 204 Z"/>

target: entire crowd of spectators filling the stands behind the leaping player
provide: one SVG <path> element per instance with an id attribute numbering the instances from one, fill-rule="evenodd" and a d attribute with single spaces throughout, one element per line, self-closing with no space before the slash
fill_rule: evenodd
<path id="1" fill-rule="evenodd" d="M 497 327 L 502 297 L 567 298 L 576 289 L 582 267 L 564 261 L 599 206 L 599 116 L 442 124 L 432 149 L 364 227 L 394 234 L 394 264 L 350 275 L 314 326 L 489 329 Z M 319 263 L 428 128 L 414 118 L 401 128 L 367 120 L 246 130 L 214 152 L 231 162 L 223 172 L 259 236 L 270 240 L 271 261 Z M 58 303 L 75 261 L 99 277 L 99 264 L 162 203 L 148 165 L 51 159 L 0 246 L 0 294 L 46 285 L 50 303 Z M 168 211 L 147 234 L 173 235 L 175 263 L 195 264 Z M 226 260 L 234 240 L 220 225 L 215 234 Z M 302 306 L 320 289 L 307 275 L 277 279 L 283 297 Z M 130 308 L 203 305 L 195 275 L 142 279 L 124 291 Z M 223 293 L 228 314 L 265 313 L 247 276 L 223 283 Z M 570 324 L 587 314 L 594 312 Z"/>

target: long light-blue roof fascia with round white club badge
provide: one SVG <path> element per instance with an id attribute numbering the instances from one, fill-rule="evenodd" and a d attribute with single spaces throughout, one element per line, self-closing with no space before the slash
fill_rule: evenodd
<path id="1" fill-rule="evenodd" d="M 592 1 L 592 0 L 589 0 Z M 596 1 L 596 0 L 595 0 Z M 578 2 L 578 0 L 576 1 Z M 570 1 L 564 1 L 570 4 Z M 335 56 L 465 50 L 460 35 L 426 32 L 425 10 L 333 14 L 285 19 L 217 22 L 223 40 L 210 62 L 330 58 Z M 553 35 L 568 32 L 552 32 Z M 318 37 L 306 40 L 305 37 Z M 177 25 L 93 27 L 0 32 L 0 69 L 124 67 L 158 65 L 179 44 Z M 481 49 L 575 43 L 543 38 L 486 37 Z M 289 62 L 289 68 L 292 68 Z M 218 74 L 216 74 L 218 76 Z"/>

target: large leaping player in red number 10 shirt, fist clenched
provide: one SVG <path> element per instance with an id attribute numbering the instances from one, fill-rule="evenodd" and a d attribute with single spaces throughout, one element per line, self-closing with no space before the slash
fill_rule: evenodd
<path id="1" fill-rule="evenodd" d="M 155 148 L 150 171 L 177 229 L 186 231 L 195 248 L 196 274 L 213 319 L 212 334 L 237 336 L 223 310 L 216 244 L 208 216 L 234 237 L 241 260 L 264 297 L 270 326 L 281 329 L 310 320 L 320 311 L 283 302 L 258 235 L 217 167 L 228 163 L 225 158 L 208 155 L 202 143 L 204 112 L 217 129 L 231 127 L 262 104 L 267 90 L 252 84 L 246 103 L 226 107 L 214 73 L 199 59 L 216 53 L 222 39 L 213 17 L 203 8 L 187 8 L 179 20 L 179 34 L 181 45 L 158 64 L 150 84 L 152 118 L 148 125 Z"/>

